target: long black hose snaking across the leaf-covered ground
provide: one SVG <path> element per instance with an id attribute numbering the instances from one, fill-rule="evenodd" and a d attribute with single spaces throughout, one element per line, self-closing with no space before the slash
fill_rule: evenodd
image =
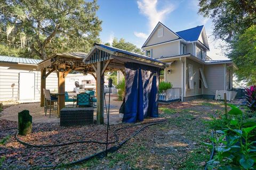
<path id="1" fill-rule="evenodd" d="M 165 120 L 161 120 L 161 121 L 155 121 L 155 122 L 146 122 L 146 123 L 139 123 L 139 124 L 134 124 L 134 125 L 130 125 L 130 126 L 125 126 L 123 128 L 117 128 L 114 130 L 114 135 L 115 135 L 115 141 L 111 141 L 111 142 L 108 142 L 109 144 L 110 143 L 115 143 L 115 142 L 118 142 L 118 136 L 116 134 L 116 131 L 118 130 L 122 130 L 122 129 L 127 129 L 127 128 L 131 128 L 133 126 L 138 126 L 138 125 L 143 125 L 143 124 L 147 124 L 145 126 L 143 126 L 142 128 L 140 128 L 138 131 L 134 132 L 129 138 L 126 138 L 125 140 L 121 141 L 120 143 L 118 143 L 117 146 L 113 146 L 111 148 L 108 148 L 107 152 L 115 152 L 116 150 L 118 150 L 119 148 L 121 148 L 128 140 L 130 140 L 131 138 L 133 138 L 135 135 L 137 135 L 138 133 L 140 133 L 143 129 L 147 128 L 148 126 L 152 126 L 152 125 L 156 125 L 156 124 L 161 124 L 163 122 L 165 122 Z M 8 129 L 4 129 L 4 130 L 1 130 L 0 132 L 2 131 L 6 131 L 6 130 L 12 130 L 12 129 L 18 129 L 18 128 L 8 128 Z M 106 142 L 100 142 L 100 141 L 74 141 L 74 142 L 68 142 L 68 143 L 61 143 L 61 144 L 57 144 L 57 145 L 32 145 L 30 143 L 27 143 L 27 142 L 24 142 L 24 141 L 21 141 L 19 138 L 18 138 L 18 133 L 15 135 L 15 138 L 18 142 L 20 142 L 22 145 L 25 145 L 25 146 L 29 146 L 29 147 L 38 147 L 38 148 L 43 148 L 43 147 L 59 147 L 59 146 L 66 146 L 66 145 L 71 145 L 71 144 L 74 144 L 74 143 L 99 143 L 99 144 L 102 144 L 102 145 L 106 145 Z M 41 168 L 56 168 L 56 167 L 59 167 L 59 166 L 70 166 L 70 165 L 74 165 L 74 164 L 79 164 L 79 163 L 83 163 L 87 160 L 90 160 L 90 159 L 93 159 L 93 158 L 103 158 L 106 156 L 106 150 L 103 150 L 103 151 L 100 151 L 100 152 L 97 152 L 93 155 L 90 155 L 90 156 L 87 156 L 87 157 L 84 157 L 82 159 L 79 159 L 79 160 L 76 160 L 74 162 L 69 162 L 69 163 L 66 163 L 66 164 L 61 164 L 61 165 L 43 165 L 41 166 Z"/>

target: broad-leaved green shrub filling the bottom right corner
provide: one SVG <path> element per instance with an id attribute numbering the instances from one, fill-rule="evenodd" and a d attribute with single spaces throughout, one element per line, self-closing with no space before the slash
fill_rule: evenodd
<path id="1" fill-rule="evenodd" d="M 245 120 L 238 107 L 229 106 L 228 116 L 219 120 L 218 137 L 212 139 L 216 154 L 207 162 L 207 169 L 255 169 L 256 122 Z M 211 143 L 205 145 L 212 148 Z"/>

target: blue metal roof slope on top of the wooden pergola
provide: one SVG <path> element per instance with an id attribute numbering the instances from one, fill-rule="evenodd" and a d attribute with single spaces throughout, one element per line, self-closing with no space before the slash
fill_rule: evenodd
<path id="1" fill-rule="evenodd" d="M 140 54 L 137 54 L 137 53 L 132 53 L 132 52 L 129 52 L 129 51 L 126 51 L 126 50 L 123 50 L 123 49 L 119 49 L 119 48 L 115 48 L 115 47 L 109 47 L 109 46 L 106 46 L 106 45 L 103 45 L 103 44 L 97 44 L 97 43 L 95 43 L 94 45 L 98 45 L 102 48 L 106 48 L 106 49 L 110 50 L 111 52 L 122 53 L 122 54 L 130 55 L 130 56 L 134 56 L 134 57 L 138 57 L 138 58 L 143 58 L 143 59 L 146 59 L 146 60 L 151 60 L 151 61 L 154 61 L 154 62 L 164 64 L 163 62 L 161 62 L 159 60 L 156 60 L 154 58 L 150 58 L 150 57 L 147 57 L 145 55 L 140 55 Z"/>

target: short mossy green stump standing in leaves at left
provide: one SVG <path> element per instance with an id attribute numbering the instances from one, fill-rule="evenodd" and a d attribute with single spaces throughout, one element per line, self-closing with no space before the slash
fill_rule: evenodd
<path id="1" fill-rule="evenodd" d="M 32 131 L 32 116 L 28 110 L 24 110 L 18 113 L 18 126 L 19 134 L 27 135 Z"/>

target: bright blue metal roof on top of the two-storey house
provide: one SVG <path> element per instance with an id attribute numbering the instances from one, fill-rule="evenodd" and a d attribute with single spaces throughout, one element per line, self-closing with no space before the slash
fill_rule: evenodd
<path id="1" fill-rule="evenodd" d="M 176 32 L 181 38 L 186 41 L 197 41 L 204 25 L 190 28 L 187 30 Z"/>

